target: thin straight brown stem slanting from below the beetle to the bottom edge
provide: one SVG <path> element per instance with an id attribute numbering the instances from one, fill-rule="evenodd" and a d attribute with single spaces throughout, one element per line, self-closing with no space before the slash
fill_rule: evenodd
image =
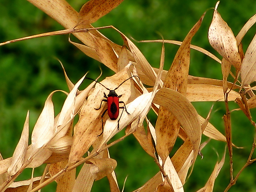
<path id="1" fill-rule="evenodd" d="M 82 160 L 79 160 L 78 162 L 75 162 L 71 165 L 67 165 L 64 169 L 60 170 L 57 174 L 55 174 L 54 176 L 50 177 L 49 179 L 47 179 L 46 181 L 44 181 L 43 183 L 37 185 L 37 187 L 35 187 L 34 189 L 32 189 L 30 192 L 36 192 L 38 190 L 40 190 L 42 187 L 45 187 L 46 185 L 48 185 L 49 183 L 53 182 L 56 178 L 59 178 L 60 176 L 64 175 L 66 172 L 71 171 L 72 169 L 75 169 L 76 167 L 78 167 L 78 165 L 81 165 L 82 163 L 85 163 L 87 160 L 94 158 L 96 155 L 98 155 L 100 152 L 104 151 L 105 149 L 108 149 L 109 147 L 113 146 L 114 144 L 122 141 L 125 137 L 127 137 L 128 135 L 132 134 L 132 132 L 127 133 L 126 135 L 124 135 L 123 137 L 115 140 L 114 142 L 103 146 L 101 149 L 96 150 L 95 152 L 92 152 L 90 155 L 88 155 L 86 158 L 83 158 Z"/>

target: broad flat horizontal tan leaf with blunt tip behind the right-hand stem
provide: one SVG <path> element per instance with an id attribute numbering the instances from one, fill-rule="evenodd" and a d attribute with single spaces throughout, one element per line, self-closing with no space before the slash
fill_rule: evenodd
<path id="1" fill-rule="evenodd" d="M 206 84 L 188 84 L 187 99 L 192 101 L 224 101 L 223 87 Z M 236 91 L 229 93 L 229 101 L 240 97 Z"/>

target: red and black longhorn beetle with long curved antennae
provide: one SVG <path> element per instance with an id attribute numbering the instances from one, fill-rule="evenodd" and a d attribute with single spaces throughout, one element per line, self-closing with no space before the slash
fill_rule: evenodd
<path id="1" fill-rule="evenodd" d="M 130 78 L 133 78 L 133 77 L 138 77 L 138 78 L 139 78 L 138 75 L 131 76 Z M 103 87 L 105 87 L 107 90 L 110 91 L 108 95 L 106 95 L 105 92 L 103 92 L 103 93 L 104 93 L 104 98 L 106 98 L 106 99 L 103 99 L 103 100 L 101 101 L 101 104 L 102 104 L 103 101 L 107 102 L 107 109 L 106 109 L 106 110 L 103 112 L 103 114 L 101 115 L 101 124 L 102 124 L 102 132 L 101 132 L 101 134 L 103 133 L 103 116 L 105 115 L 106 112 L 108 113 L 108 116 L 110 117 L 111 120 L 116 120 L 116 119 L 117 119 L 117 117 L 118 117 L 118 115 L 119 115 L 119 109 L 125 110 L 126 113 L 127 113 L 128 115 L 130 115 L 130 113 L 126 110 L 126 105 L 125 105 L 125 103 L 123 103 L 123 101 L 119 101 L 119 98 L 120 98 L 122 95 L 117 95 L 117 93 L 116 93 L 116 91 L 115 91 L 115 90 L 117 90 L 124 82 L 126 82 L 126 81 L 129 80 L 130 78 L 124 80 L 117 88 L 115 88 L 115 89 L 113 89 L 113 90 L 111 90 L 111 89 L 105 87 L 105 85 L 102 85 L 101 82 L 98 82 L 98 81 L 96 81 L 96 80 L 94 80 L 94 79 L 91 79 L 91 78 L 87 78 L 87 79 L 90 79 L 90 80 L 95 81 L 96 83 L 101 84 Z M 119 107 L 119 103 L 123 103 L 123 107 Z M 101 105 L 100 105 L 100 107 L 94 108 L 94 109 L 95 109 L 95 110 L 99 110 L 100 108 L 101 108 Z M 123 114 L 123 110 L 122 110 L 121 115 Z M 117 120 L 117 123 L 118 123 L 118 124 L 117 124 L 117 130 L 119 130 L 119 121 L 120 121 L 120 118 L 121 118 L 121 116 L 120 116 L 119 119 Z M 100 134 L 100 135 L 101 135 L 101 134 Z M 98 136 L 100 136 L 100 135 L 98 135 Z"/>

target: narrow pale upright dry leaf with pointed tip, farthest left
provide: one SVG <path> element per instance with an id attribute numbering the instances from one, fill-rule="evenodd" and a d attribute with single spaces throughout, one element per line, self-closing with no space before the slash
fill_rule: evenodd
<path id="1" fill-rule="evenodd" d="M 28 136 L 29 136 L 29 112 L 27 112 L 27 117 L 24 123 L 23 131 L 21 133 L 21 139 L 19 140 L 14 154 L 12 156 L 11 165 L 7 169 L 9 176 L 13 176 L 21 168 L 24 162 L 25 153 L 28 147 Z"/>

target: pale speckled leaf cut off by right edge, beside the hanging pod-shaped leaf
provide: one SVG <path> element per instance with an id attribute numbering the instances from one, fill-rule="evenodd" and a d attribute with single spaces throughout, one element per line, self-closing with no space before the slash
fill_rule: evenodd
<path id="1" fill-rule="evenodd" d="M 245 52 L 245 58 L 242 61 L 241 66 L 241 79 L 242 85 L 250 84 L 256 80 L 256 35 L 252 39 L 247 51 Z"/>

